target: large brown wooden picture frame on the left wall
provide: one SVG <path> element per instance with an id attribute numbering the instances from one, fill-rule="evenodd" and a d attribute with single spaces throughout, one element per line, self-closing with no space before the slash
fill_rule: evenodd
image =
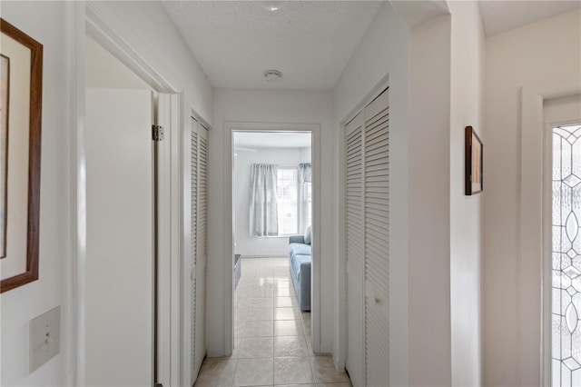
<path id="1" fill-rule="evenodd" d="M 0 91 L 5 95 L 0 106 L 7 109 L 0 120 L 6 134 L 0 154 L 5 161 L 0 163 L 0 181 L 5 179 L 0 203 L 6 203 L 0 222 L 0 238 L 4 234 L 0 247 L 5 250 L 0 252 L 4 256 L 0 293 L 4 293 L 38 279 L 43 45 L 2 18 L 0 33 L 0 54 L 6 58 L 2 63 L 9 63 L 9 87 Z"/>

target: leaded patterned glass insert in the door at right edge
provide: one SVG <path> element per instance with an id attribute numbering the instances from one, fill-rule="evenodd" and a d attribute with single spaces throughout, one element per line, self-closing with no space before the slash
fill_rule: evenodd
<path id="1" fill-rule="evenodd" d="M 553 128 L 552 384 L 581 386 L 581 125 Z"/>

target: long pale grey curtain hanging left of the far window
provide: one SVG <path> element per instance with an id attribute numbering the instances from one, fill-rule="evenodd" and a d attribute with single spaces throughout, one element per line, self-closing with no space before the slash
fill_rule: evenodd
<path id="1" fill-rule="evenodd" d="M 251 165 L 250 235 L 279 234 L 275 164 Z"/>

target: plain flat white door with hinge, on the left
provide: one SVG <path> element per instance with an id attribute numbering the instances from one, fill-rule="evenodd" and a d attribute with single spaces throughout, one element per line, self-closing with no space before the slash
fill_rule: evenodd
<path id="1" fill-rule="evenodd" d="M 153 385 L 153 97 L 86 90 L 86 385 Z"/>

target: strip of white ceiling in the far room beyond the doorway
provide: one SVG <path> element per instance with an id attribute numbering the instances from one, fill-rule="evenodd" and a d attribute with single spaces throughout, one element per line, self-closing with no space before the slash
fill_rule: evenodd
<path id="1" fill-rule="evenodd" d="M 309 148 L 310 134 L 234 132 L 234 149 Z"/>

